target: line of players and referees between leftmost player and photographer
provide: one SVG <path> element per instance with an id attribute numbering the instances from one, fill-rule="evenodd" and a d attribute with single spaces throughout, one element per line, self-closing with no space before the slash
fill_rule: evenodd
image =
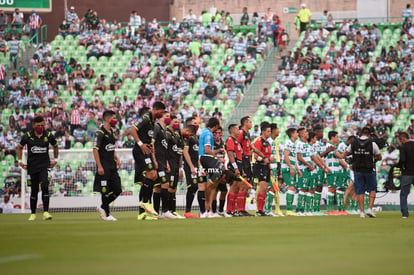
<path id="1" fill-rule="evenodd" d="M 114 124 L 115 114 L 105 113 L 104 126 L 97 131 L 94 146 L 98 166 L 94 186 L 95 191 L 102 193 L 102 205 L 98 211 L 101 218 L 108 221 L 116 220 L 110 214 L 109 203 L 121 193 L 115 165 L 119 165 L 119 160 L 114 146 L 108 146 L 114 142 L 108 139 L 112 136 L 110 127 Z M 162 102 L 155 102 L 152 109 L 143 109 L 140 119 L 131 128 L 136 142 L 133 148 L 135 183 L 141 185 L 138 220 L 251 216 L 245 205 L 252 183 L 257 185 L 256 215 L 284 216 L 279 207 L 277 178 L 280 173 L 288 187 L 288 216 L 348 215 L 344 208 L 347 201 L 345 195 L 348 194 L 351 194 L 351 205 L 356 209 L 352 185 L 348 187 L 348 164 L 343 161 L 343 152 L 352 138 L 340 143 L 338 133 L 332 131 L 328 134 L 329 142 L 324 145 L 322 128 L 316 127 L 312 133 L 304 128 L 291 128 L 286 131 L 288 140 L 281 157 L 276 124 L 263 122 L 261 135 L 253 144 L 249 135 L 251 128 L 251 119 L 243 117 L 240 127 L 235 124 L 228 127 L 229 137 L 224 144 L 223 129 L 214 117 L 198 137 L 195 118 L 187 119 L 181 128 L 177 117 L 165 112 Z M 109 155 L 105 153 L 108 149 L 111 151 Z M 184 177 L 182 170 L 187 183 L 184 216 L 176 212 L 175 199 L 178 181 Z M 328 183 L 327 214 L 320 211 L 325 176 Z M 227 185 L 230 185 L 229 190 Z M 196 194 L 199 213 L 193 215 L 191 208 Z M 335 194 L 338 211 L 333 209 Z"/>

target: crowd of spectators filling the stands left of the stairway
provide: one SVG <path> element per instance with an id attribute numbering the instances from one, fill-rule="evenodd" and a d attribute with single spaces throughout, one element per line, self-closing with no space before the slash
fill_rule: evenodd
<path id="1" fill-rule="evenodd" d="M 202 103 L 211 101 L 213 106 L 216 101 L 238 102 L 265 56 L 268 39 L 273 38 L 273 33 L 264 31 L 273 18 L 276 17 L 259 19 L 260 24 L 252 32 L 235 33 L 232 18 L 225 11 L 212 15 L 204 10 L 197 18 L 190 10 L 181 22 L 172 18 L 168 25 L 156 18 L 147 21 L 132 11 L 129 22 L 124 24 L 100 18 L 93 9 L 81 17 L 70 7 L 58 26 L 59 37 L 72 38 L 85 49 L 85 56 L 68 56 L 62 46 L 44 42 L 36 47 L 29 64 L 20 60 L 10 68 L 0 65 L 1 159 L 16 158 L 20 136 L 31 130 L 36 115 L 45 117 L 46 129 L 56 136 L 61 149 L 91 148 L 105 109 L 117 114 L 117 148 L 133 146 L 128 129 L 140 112 L 156 100 L 164 101 L 169 111 L 182 120 L 190 116 L 200 123 L 212 116 L 222 119 L 223 113 L 217 107 L 196 107 L 184 99 L 193 95 L 200 97 Z M 251 23 L 248 20 L 243 25 Z M 12 24 L 11 30 L 16 27 Z M 20 33 L 26 35 L 24 31 Z M 12 51 L 10 47 L 15 38 L 12 35 L 9 39 L 8 33 L 0 32 L 4 55 L 9 51 L 10 56 L 18 56 L 20 49 Z M 129 63 L 124 69 L 111 75 L 96 72 L 92 59 L 107 62 L 119 52 Z M 6 76 L 8 71 L 12 72 L 10 76 Z M 138 85 L 127 93 L 125 83 Z M 131 165 L 125 169 L 130 170 Z M 74 184 L 84 183 L 82 175 L 93 169 L 59 167 L 53 173 L 51 188 L 61 195 L 74 195 L 74 190 L 78 192 L 82 187 L 74 188 Z M 6 189 L 3 192 L 11 193 Z"/>

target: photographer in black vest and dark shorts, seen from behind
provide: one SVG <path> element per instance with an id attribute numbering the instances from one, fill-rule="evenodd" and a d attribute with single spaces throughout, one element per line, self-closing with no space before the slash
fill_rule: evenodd
<path id="1" fill-rule="evenodd" d="M 360 217 L 365 218 L 364 193 L 369 192 L 369 208 L 367 215 L 375 218 L 372 210 L 377 190 L 377 178 L 375 162 L 381 160 L 378 145 L 371 139 L 371 131 L 368 127 L 362 129 L 361 137 L 356 138 L 348 146 L 343 156 L 352 155 L 352 170 L 354 171 L 355 193 L 358 198 Z"/>

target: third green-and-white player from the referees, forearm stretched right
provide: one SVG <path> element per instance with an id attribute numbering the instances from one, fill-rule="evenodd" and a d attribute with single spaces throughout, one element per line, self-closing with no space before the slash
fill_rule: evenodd
<path id="1" fill-rule="evenodd" d="M 330 173 L 331 170 L 329 170 L 329 168 L 325 165 L 325 162 L 323 161 L 323 159 L 319 156 L 317 152 L 316 134 L 314 132 L 310 132 L 308 135 L 309 135 L 308 143 L 311 146 L 310 156 L 311 156 L 313 163 L 316 164 L 316 166 L 315 166 L 315 169 L 312 170 L 310 174 L 310 178 L 309 178 L 309 194 L 306 194 L 306 195 L 310 197 L 310 200 L 305 205 L 305 213 L 312 213 L 315 216 L 325 216 L 326 214 L 320 212 L 319 208 L 315 210 L 315 203 L 314 203 L 315 189 L 317 188 L 316 186 L 319 181 L 320 174 L 324 175 L 324 173 Z"/>

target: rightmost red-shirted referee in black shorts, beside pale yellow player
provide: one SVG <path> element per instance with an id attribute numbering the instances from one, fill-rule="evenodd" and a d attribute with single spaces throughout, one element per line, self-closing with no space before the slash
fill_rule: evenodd
<path id="1" fill-rule="evenodd" d="M 266 200 L 266 192 L 267 186 L 269 185 L 269 180 L 272 175 L 272 171 L 270 169 L 270 162 L 271 154 L 272 154 L 272 147 L 270 146 L 269 142 L 267 141 L 270 137 L 270 124 L 269 123 L 262 123 L 261 127 L 261 135 L 254 144 L 253 147 L 256 148 L 257 151 L 261 152 L 264 157 L 261 157 L 257 154 L 256 156 L 256 163 L 254 165 L 254 172 L 253 174 L 258 179 L 259 182 L 259 193 L 257 195 L 257 211 L 256 215 L 265 217 L 269 216 L 264 212 L 264 204 Z"/>

